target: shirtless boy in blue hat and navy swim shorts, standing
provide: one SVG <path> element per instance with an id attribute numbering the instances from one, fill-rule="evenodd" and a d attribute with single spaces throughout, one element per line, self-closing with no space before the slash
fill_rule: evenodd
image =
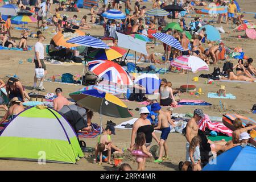
<path id="1" fill-rule="evenodd" d="M 168 147 L 167 147 L 167 137 L 170 134 L 171 128 L 169 123 L 173 125 L 171 121 L 169 121 L 166 112 L 161 110 L 161 106 L 158 103 L 154 103 L 151 105 L 151 111 L 158 113 L 158 126 L 156 126 L 155 130 L 162 130 L 162 134 L 160 137 L 160 147 L 159 147 L 159 157 L 155 160 L 155 163 L 162 163 L 163 159 L 168 159 Z M 165 153 L 163 158 L 163 152 Z"/>

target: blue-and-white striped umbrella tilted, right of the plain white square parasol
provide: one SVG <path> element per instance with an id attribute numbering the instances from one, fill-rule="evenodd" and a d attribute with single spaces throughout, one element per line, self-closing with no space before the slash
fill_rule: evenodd
<path id="1" fill-rule="evenodd" d="M 156 39 L 159 39 L 161 42 L 166 43 L 167 45 L 174 47 L 176 49 L 179 49 L 180 51 L 183 51 L 183 47 L 181 46 L 180 42 L 177 41 L 173 36 L 167 35 L 164 33 L 156 33 L 152 34 Z"/>

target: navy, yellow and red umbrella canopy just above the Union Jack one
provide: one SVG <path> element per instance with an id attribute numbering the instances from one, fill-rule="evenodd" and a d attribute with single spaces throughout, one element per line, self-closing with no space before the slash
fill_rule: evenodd
<path id="1" fill-rule="evenodd" d="M 90 57 L 101 60 L 114 60 L 122 57 L 126 53 L 126 49 L 120 47 L 110 47 L 110 49 L 97 49 L 89 54 Z"/>

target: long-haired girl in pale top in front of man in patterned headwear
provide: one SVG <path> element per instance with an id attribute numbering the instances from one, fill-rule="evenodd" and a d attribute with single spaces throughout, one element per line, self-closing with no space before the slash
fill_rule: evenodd
<path id="1" fill-rule="evenodd" d="M 189 144 L 189 157 L 192 163 L 193 171 L 201 171 L 201 156 L 200 156 L 200 143 L 202 142 L 199 136 L 192 138 L 191 143 Z"/>

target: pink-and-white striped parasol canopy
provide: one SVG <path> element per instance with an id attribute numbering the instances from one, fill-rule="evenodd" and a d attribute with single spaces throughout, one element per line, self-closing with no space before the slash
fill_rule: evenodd
<path id="1" fill-rule="evenodd" d="M 174 67 L 191 70 L 192 72 L 203 70 L 209 71 L 208 64 L 196 56 L 179 56 L 172 61 L 171 65 Z"/>

